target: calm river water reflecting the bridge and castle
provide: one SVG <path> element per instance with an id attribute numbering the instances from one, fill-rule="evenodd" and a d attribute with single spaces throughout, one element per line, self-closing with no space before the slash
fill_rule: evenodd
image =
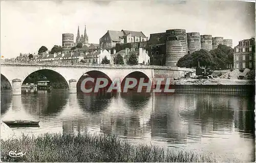
<path id="1" fill-rule="evenodd" d="M 2 120 L 40 120 L 16 134 L 117 134 L 131 143 L 214 153 L 218 161 L 254 161 L 254 97 L 210 92 L 184 94 L 68 94 L 64 90 L 9 91 Z"/>

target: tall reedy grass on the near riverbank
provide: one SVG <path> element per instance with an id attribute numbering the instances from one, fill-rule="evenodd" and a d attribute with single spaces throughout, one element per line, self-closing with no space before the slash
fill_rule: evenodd
<path id="1" fill-rule="evenodd" d="M 10 151 L 23 152 L 11 157 Z M 1 143 L 2 161 L 29 162 L 212 162 L 209 154 L 164 150 L 156 146 L 132 145 L 117 136 L 44 134 Z"/>

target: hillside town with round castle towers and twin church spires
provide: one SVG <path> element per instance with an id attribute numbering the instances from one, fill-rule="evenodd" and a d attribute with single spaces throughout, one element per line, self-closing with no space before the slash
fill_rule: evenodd
<path id="1" fill-rule="evenodd" d="M 18 62 L 87 63 L 87 64 L 145 64 L 161 66 L 196 67 L 181 61 L 195 53 L 210 53 L 220 56 L 218 50 L 225 49 L 228 58 L 216 57 L 211 63 L 200 64 L 215 69 L 254 69 L 255 38 L 245 38 L 232 48 L 232 39 L 200 35 L 199 32 L 186 33 L 184 29 L 170 29 L 163 33 L 152 33 L 148 38 L 139 31 L 108 30 L 98 43 L 89 43 L 87 27 L 76 37 L 72 33 L 62 34 L 62 46 L 54 45 L 50 50 L 42 45 L 38 53 L 22 54 L 13 59 Z M 217 53 L 217 54 L 216 54 Z M 129 61 L 131 56 L 137 58 Z M 202 58 L 202 57 L 201 57 Z M 5 60 L 2 56 L 1 60 Z M 180 61 L 179 61 L 180 60 Z M 225 63 L 218 63 L 225 60 Z M 187 61 L 185 59 L 185 61 Z M 216 64 L 214 64 L 216 63 Z"/>

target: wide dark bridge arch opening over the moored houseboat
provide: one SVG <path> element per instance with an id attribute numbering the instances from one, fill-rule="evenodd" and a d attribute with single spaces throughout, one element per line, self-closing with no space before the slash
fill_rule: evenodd
<path id="1" fill-rule="evenodd" d="M 36 69 L 35 71 L 29 72 L 26 77 L 22 80 L 22 84 L 26 83 L 36 83 L 40 80 L 49 80 L 54 89 L 68 89 L 69 83 L 65 77 L 62 76 L 59 72 L 53 69 Z"/>

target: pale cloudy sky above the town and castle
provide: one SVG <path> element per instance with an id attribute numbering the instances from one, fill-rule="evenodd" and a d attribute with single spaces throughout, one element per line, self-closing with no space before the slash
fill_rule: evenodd
<path id="1" fill-rule="evenodd" d="M 185 29 L 213 37 L 255 36 L 255 3 L 218 1 L 1 1 L 1 55 L 37 53 L 62 45 L 62 33 L 77 35 L 87 26 L 89 43 L 108 30 L 151 33 Z M 75 39 L 75 38 L 74 38 Z"/>

